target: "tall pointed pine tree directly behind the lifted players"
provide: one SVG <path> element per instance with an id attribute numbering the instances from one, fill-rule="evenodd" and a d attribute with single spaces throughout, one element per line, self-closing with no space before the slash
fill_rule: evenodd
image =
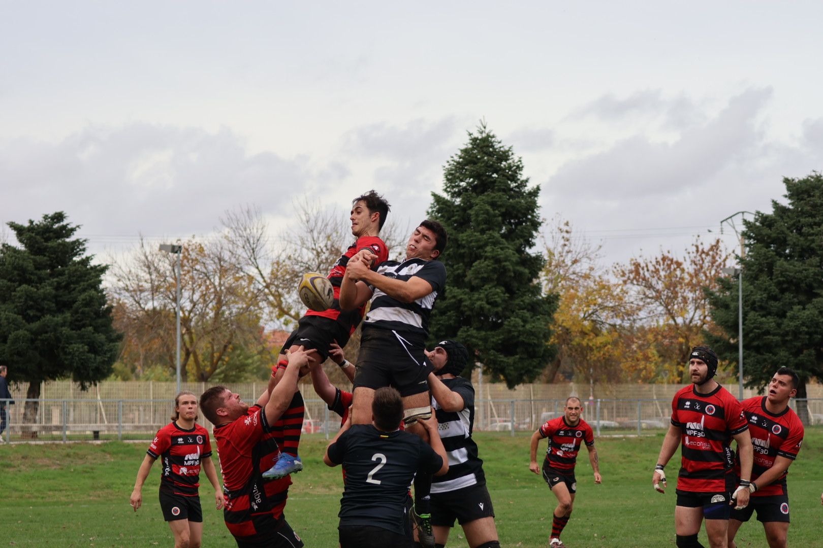
<path id="1" fill-rule="evenodd" d="M 556 353 L 549 339 L 557 297 L 542 294 L 543 257 L 532 251 L 539 192 L 528 187 L 522 159 L 481 123 L 446 163 L 444 195 L 432 193 L 429 210 L 449 233 L 431 342 L 465 344 L 509 387 L 533 380 Z"/>

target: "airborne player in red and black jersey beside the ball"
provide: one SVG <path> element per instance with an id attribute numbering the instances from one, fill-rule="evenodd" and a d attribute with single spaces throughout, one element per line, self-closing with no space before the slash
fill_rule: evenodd
<path id="1" fill-rule="evenodd" d="M 362 196 L 356 197 L 352 201 L 351 214 L 351 234 L 357 241 L 346 250 L 328 273 L 328 279 L 334 288 L 334 303 L 326 311 L 306 311 L 305 315 L 297 323 L 295 329 L 286 343 L 283 344 L 280 361 L 278 362 L 273 375 L 275 380 L 280 379 L 282 368 L 286 364 L 286 350 L 295 350 L 298 346 L 304 348 L 314 348 L 317 352 L 311 358 L 309 368 L 314 369 L 319 363 L 326 361 L 332 344 L 339 344 L 344 347 L 349 337 L 360 325 L 365 313 L 365 304 L 351 311 L 342 311 L 340 308 L 340 284 L 346 267 L 352 256 L 359 251 L 368 250 L 374 254 L 374 262 L 371 268 L 376 269 L 380 263 L 388 259 L 388 247 L 380 239 L 380 229 L 386 222 L 386 215 L 390 206 L 388 201 L 375 191 L 366 192 Z M 267 470 L 263 477 L 277 479 L 287 474 L 300 472 L 303 463 L 297 455 L 297 447 L 300 444 L 300 431 L 303 426 L 305 407 L 303 397 L 298 392 L 286 412 L 291 420 L 284 435 L 285 443 L 282 447 L 281 458 L 277 463 Z"/>

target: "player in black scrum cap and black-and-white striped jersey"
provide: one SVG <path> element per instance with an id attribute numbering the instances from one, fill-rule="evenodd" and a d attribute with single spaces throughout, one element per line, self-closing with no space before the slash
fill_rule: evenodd
<path id="1" fill-rule="evenodd" d="M 457 519 L 470 548 L 499 548 L 495 510 L 486 489 L 483 461 L 472 440 L 474 387 L 459 376 L 468 352 L 463 344 L 441 341 L 426 352 L 435 371 L 429 375 L 432 407 L 439 423 L 440 439 L 449 456 L 449 472 L 431 484 L 431 524 L 435 546 L 445 546 Z"/>

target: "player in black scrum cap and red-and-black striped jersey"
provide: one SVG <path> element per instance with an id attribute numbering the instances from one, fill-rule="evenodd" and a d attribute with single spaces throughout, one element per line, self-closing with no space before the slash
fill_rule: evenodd
<path id="1" fill-rule="evenodd" d="M 730 506 L 745 508 L 749 502 L 751 438 L 740 403 L 713 378 L 717 366 L 718 357 L 711 348 L 691 349 L 692 385 L 678 390 L 672 398 L 672 424 L 652 474 L 654 489 L 663 493 L 663 467 L 681 445 L 675 508 L 678 548 L 702 548 L 697 533 L 704 519 L 711 546 L 726 546 Z M 737 489 L 732 438 L 741 461 L 742 479 Z"/>

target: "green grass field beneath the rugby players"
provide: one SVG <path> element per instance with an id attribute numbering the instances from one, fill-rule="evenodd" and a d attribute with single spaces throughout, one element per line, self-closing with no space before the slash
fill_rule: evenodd
<path id="1" fill-rule="evenodd" d="M 500 544 L 546 546 L 555 500 L 540 477 L 528 471 L 528 433 L 476 435 L 495 504 Z M 663 435 L 597 440 L 603 483 L 595 486 L 588 458 L 577 469 L 578 498 L 563 540 L 570 548 L 674 546 L 674 482 L 660 495 L 650 485 Z M 541 449 L 545 447 L 545 441 Z M 309 547 L 337 546 L 337 510 L 342 491 L 339 468 L 323 465 L 326 441 L 305 435 L 300 454 L 305 472 L 296 474 L 286 518 Z M 157 502 L 158 465 L 143 488 L 143 507 L 128 504 L 146 443 L 0 445 L 0 546 L 172 546 Z M 677 465 L 670 465 L 674 475 Z M 203 478 L 205 479 L 205 478 Z M 789 473 L 790 546 L 823 546 L 823 430 L 810 428 Z M 203 546 L 235 542 L 213 509 L 212 487 L 201 487 Z M 454 548 L 467 546 L 456 528 Z M 706 546 L 701 532 L 700 541 Z M 738 546 L 766 546 L 760 523 L 741 528 Z"/>

